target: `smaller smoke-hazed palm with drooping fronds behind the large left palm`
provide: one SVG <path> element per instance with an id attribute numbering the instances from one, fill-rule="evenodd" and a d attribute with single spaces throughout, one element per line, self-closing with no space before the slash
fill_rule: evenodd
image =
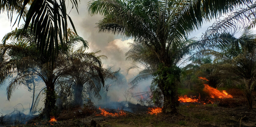
<path id="1" fill-rule="evenodd" d="M 70 50 L 69 54 L 84 54 L 86 50 L 81 47 L 76 51 Z M 97 56 L 100 51 L 91 52 L 90 55 L 95 56 L 98 60 L 106 58 L 105 56 Z M 74 106 L 83 105 L 83 94 L 90 92 L 94 94 L 94 97 L 101 99 L 100 90 L 101 86 L 104 86 L 102 79 L 114 79 L 115 72 L 111 72 L 110 69 L 104 69 L 97 61 L 93 61 L 91 58 L 73 58 L 69 59 L 69 66 L 63 70 L 65 77 L 60 83 L 71 84 L 71 88 L 74 94 Z M 104 80 L 103 80 L 104 81 Z"/>

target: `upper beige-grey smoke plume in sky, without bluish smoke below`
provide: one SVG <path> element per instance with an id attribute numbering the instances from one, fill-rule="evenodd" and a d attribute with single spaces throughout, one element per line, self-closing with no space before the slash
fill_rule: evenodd
<path id="1" fill-rule="evenodd" d="M 88 2 L 90 2 L 90 0 L 81 1 L 78 6 L 79 14 L 75 9 L 72 9 L 70 13 L 78 35 L 89 42 L 90 48 L 88 51 L 100 50 L 101 53 L 99 53 L 99 55 L 107 56 L 107 59 L 102 60 L 104 67 L 113 66 L 114 70 L 120 68 L 121 73 L 124 74 L 127 79 L 136 76 L 134 72 L 127 73 L 126 71 L 129 66 L 136 64 L 125 60 L 125 53 L 129 50 L 128 43 L 132 43 L 132 40 L 119 35 L 113 35 L 112 33 L 99 33 L 96 28 L 96 23 L 102 19 L 102 16 L 91 16 L 87 9 Z M 70 9 L 71 3 L 69 3 L 67 10 Z"/>

